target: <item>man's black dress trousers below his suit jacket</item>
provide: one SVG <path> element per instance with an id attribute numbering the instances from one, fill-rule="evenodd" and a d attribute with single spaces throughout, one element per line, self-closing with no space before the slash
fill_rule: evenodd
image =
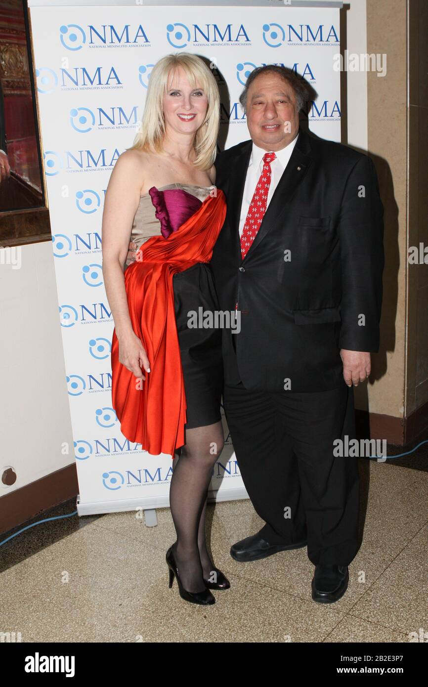
<path id="1" fill-rule="evenodd" d="M 355 438 L 354 393 L 254 392 L 225 386 L 225 416 L 245 488 L 271 544 L 308 541 L 308 558 L 348 565 L 357 553 L 357 458 L 335 457 Z"/>

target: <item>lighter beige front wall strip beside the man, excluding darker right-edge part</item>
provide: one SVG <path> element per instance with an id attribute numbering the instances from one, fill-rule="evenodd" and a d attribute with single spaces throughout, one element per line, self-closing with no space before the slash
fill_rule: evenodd
<path id="1" fill-rule="evenodd" d="M 406 0 L 367 0 L 367 50 L 387 56 L 387 74 L 368 72 L 368 151 L 385 206 L 381 346 L 368 390 L 370 412 L 405 410 L 407 256 Z M 359 407 L 362 407 L 361 405 Z"/>

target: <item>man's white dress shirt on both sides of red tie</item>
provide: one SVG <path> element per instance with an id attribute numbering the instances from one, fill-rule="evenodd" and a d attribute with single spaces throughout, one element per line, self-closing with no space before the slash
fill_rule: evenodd
<path id="1" fill-rule="evenodd" d="M 297 137 L 298 134 L 297 136 L 295 136 L 295 138 L 293 138 L 293 140 L 291 141 L 291 143 L 288 144 L 288 146 L 285 146 L 285 148 L 282 148 L 281 150 L 274 151 L 276 157 L 274 160 L 271 161 L 272 175 L 271 185 L 269 186 L 269 192 L 267 194 L 267 207 L 269 206 L 271 197 L 273 196 L 273 192 L 275 191 L 275 188 L 278 185 L 278 181 L 280 181 L 280 178 L 282 177 L 282 172 L 284 172 L 289 162 L 291 153 L 293 153 L 293 148 L 297 142 Z M 269 152 L 271 151 L 264 150 L 264 148 L 259 148 L 258 146 L 256 146 L 255 143 L 253 143 L 253 149 L 251 150 L 251 157 L 247 169 L 247 177 L 245 179 L 243 204 L 240 207 L 239 236 L 241 236 L 241 234 L 243 233 L 245 220 L 247 219 L 247 214 L 249 210 L 249 204 L 253 199 L 257 182 L 260 179 L 260 174 L 262 173 L 263 155 L 264 153 Z"/>

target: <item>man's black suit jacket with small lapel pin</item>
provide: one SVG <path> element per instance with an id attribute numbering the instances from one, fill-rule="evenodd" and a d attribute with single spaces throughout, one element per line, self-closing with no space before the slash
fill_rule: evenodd
<path id="1" fill-rule="evenodd" d="M 212 254 L 225 383 L 313 392 L 343 384 L 341 348 L 379 350 L 383 205 L 372 160 L 300 128 L 247 256 L 238 224 L 252 141 L 216 157 L 227 215 Z M 289 251 L 289 252 L 287 252 Z M 289 381 L 287 381 L 289 380 Z"/>

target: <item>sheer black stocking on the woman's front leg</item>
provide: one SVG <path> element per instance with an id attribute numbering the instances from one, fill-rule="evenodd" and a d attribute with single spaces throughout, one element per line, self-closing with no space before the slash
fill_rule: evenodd
<path id="1" fill-rule="evenodd" d="M 205 542 L 205 511 L 212 468 L 223 449 L 223 425 L 186 429 L 185 440 L 172 464 L 170 508 L 177 532 L 172 552 L 183 587 L 203 592 L 203 578 L 214 569 Z"/>

